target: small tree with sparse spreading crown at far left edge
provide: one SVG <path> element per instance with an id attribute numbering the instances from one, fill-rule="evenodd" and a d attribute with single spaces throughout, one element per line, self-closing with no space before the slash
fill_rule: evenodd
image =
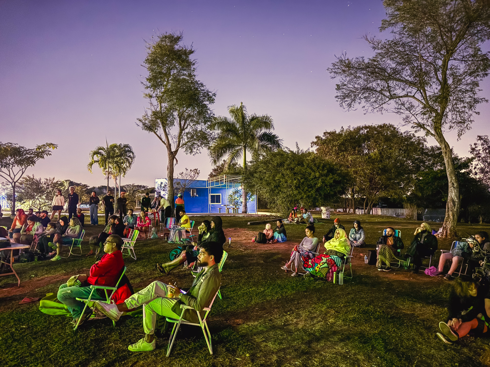
<path id="1" fill-rule="evenodd" d="M 57 144 L 46 143 L 29 149 L 15 143 L 0 142 L 0 177 L 12 187 L 11 215 L 15 215 L 15 188 L 24 176 L 25 170 L 35 165 L 37 161 L 49 157 L 52 150 L 57 147 Z"/>

